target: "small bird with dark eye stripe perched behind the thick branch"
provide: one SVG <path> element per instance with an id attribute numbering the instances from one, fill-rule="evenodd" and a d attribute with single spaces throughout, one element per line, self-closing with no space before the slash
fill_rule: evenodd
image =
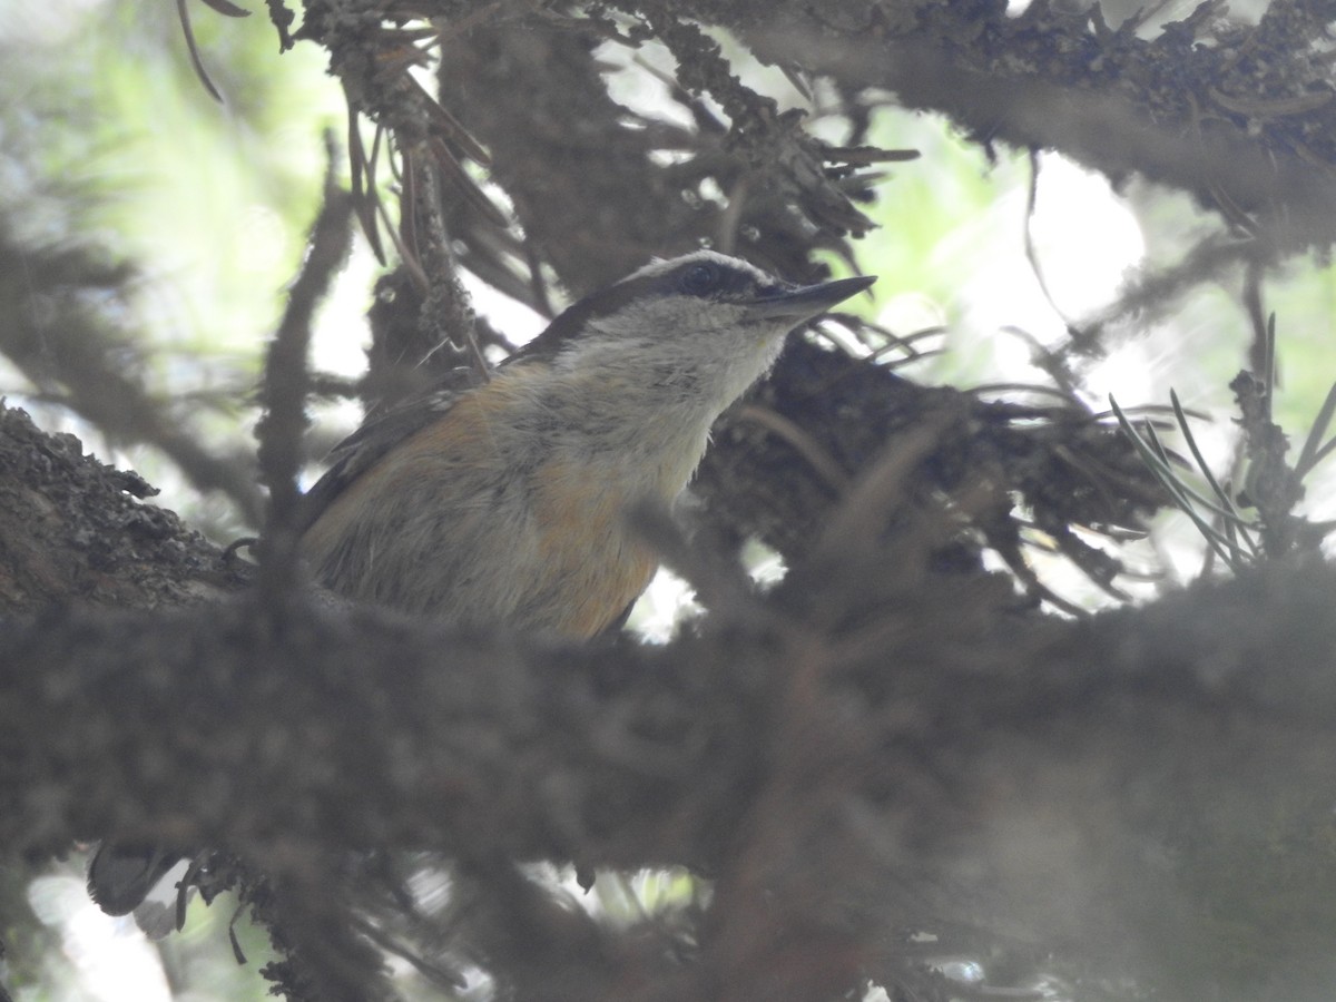
<path id="1" fill-rule="evenodd" d="M 656 569 L 627 521 L 671 508 L 711 426 L 786 335 L 875 277 L 794 285 L 697 250 L 656 259 L 557 315 L 488 378 L 452 379 L 367 420 L 303 497 L 321 585 L 453 625 L 588 640 L 623 621 Z M 104 842 L 94 899 L 174 925 L 144 899 L 180 852 Z M 143 914 L 142 914 L 143 912 Z"/>

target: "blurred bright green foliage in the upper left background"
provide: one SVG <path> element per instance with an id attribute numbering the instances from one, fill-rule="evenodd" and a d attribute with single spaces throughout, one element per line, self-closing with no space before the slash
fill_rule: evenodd
<path id="1" fill-rule="evenodd" d="M 92 244 L 139 278 L 104 318 L 134 342 L 147 391 L 178 401 L 215 454 L 250 448 L 263 345 L 319 199 L 322 131 L 342 123 L 323 53 L 279 55 L 263 7 L 192 8 L 218 104 L 190 65 L 171 3 L 55 4 L 0 25 L 3 212 L 43 244 Z M 5 196 L 8 195 L 8 198 Z M 359 321 L 361 318 L 354 318 Z M 3 375 L 4 391 L 24 391 Z M 96 429 L 75 426 L 99 452 Z M 116 444 L 112 444 L 116 445 Z M 151 450 L 128 457 L 163 504 L 220 536 L 243 526 Z"/>

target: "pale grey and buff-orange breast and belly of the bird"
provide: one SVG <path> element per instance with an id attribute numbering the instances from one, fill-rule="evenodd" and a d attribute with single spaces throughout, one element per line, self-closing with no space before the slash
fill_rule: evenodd
<path id="1" fill-rule="evenodd" d="M 449 621 L 572 637 L 617 621 L 656 565 L 627 510 L 671 502 L 703 442 L 603 441 L 569 409 L 526 394 L 521 375 L 464 397 L 335 498 L 303 540 L 326 585 Z"/>

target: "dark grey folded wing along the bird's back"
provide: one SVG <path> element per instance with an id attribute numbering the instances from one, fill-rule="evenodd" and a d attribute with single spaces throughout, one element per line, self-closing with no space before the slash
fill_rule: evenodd
<path id="1" fill-rule="evenodd" d="M 298 532 L 310 529 L 334 498 L 390 449 L 438 421 L 454 406 L 460 394 L 482 382 L 482 377 L 472 369 L 452 369 L 429 393 L 362 422 L 361 428 L 330 449 L 329 469 L 302 497 Z"/>

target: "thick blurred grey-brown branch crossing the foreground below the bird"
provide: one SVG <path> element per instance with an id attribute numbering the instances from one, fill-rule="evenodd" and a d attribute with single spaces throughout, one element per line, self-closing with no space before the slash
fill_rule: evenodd
<path id="1" fill-rule="evenodd" d="M 1230 949 L 1212 895 L 1240 866 L 1305 882 L 1281 888 L 1267 957 L 1209 977 L 1311 974 L 1336 573 L 1276 564 L 1148 609 L 1029 619 L 1003 580 L 926 566 L 934 517 L 888 537 L 883 518 L 843 516 L 848 544 L 665 648 L 306 603 L 273 631 L 244 595 L 12 623 L 0 846 L 114 834 L 236 854 L 274 888 L 257 907 L 295 950 L 274 974 L 298 998 L 374 990 L 357 916 L 377 898 L 339 860 L 390 850 L 464 860 L 461 887 L 490 902 L 445 931 L 422 918 L 436 950 L 468 941 L 502 982 L 585 999 L 836 997 L 916 977 L 908 933 L 947 926 L 1185 990 Z M 699 951 L 669 970 L 647 929 L 562 923 L 574 912 L 513 886 L 506 859 L 691 866 L 715 880 Z M 546 949 L 502 949 L 521 918 Z"/>

